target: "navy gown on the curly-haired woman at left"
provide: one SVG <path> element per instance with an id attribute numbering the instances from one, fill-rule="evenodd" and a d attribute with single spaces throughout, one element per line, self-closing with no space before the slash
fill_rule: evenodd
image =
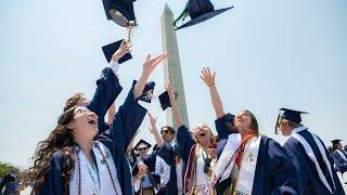
<path id="1" fill-rule="evenodd" d="M 133 194 L 126 150 L 146 114 L 146 109 L 134 100 L 132 90 L 133 88 L 130 90 L 125 103 L 116 113 L 110 131 L 101 133 L 95 139 L 110 150 L 117 169 L 121 192 L 125 195 Z M 51 157 L 51 167 L 44 176 L 46 183 L 40 187 L 39 194 L 61 195 L 64 193 L 61 178 L 62 162 L 62 152 L 55 152 Z"/>

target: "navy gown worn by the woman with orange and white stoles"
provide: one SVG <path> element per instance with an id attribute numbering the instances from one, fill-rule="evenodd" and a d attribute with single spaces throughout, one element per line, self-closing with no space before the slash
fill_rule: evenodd
<path id="1" fill-rule="evenodd" d="M 233 122 L 232 120 L 233 116 L 227 114 L 215 121 L 220 136 L 217 145 L 218 158 L 231 133 L 227 123 Z M 261 135 L 259 147 L 252 194 L 299 194 L 299 183 L 297 181 L 299 174 L 292 164 L 287 151 L 278 142 L 265 135 Z M 219 182 L 216 186 L 217 194 L 222 194 L 230 186 L 230 179 Z"/>

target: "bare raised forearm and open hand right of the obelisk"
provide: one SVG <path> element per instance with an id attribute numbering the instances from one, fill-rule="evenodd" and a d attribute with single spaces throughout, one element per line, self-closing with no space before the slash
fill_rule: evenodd
<path id="1" fill-rule="evenodd" d="M 215 108 L 215 113 L 216 113 L 216 117 L 217 118 L 221 118 L 226 115 L 226 112 L 223 109 L 223 105 L 221 103 L 220 96 L 218 94 L 218 90 L 216 88 L 216 72 L 215 73 L 210 73 L 208 67 L 204 67 L 201 70 L 201 76 L 200 76 L 203 81 L 205 82 L 205 84 L 208 87 L 209 89 L 209 95 L 210 95 L 210 100 L 213 102 L 213 106 Z"/>

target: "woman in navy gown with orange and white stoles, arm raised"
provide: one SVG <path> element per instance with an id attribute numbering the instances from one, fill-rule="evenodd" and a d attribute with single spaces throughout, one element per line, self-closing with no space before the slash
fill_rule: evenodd
<path id="1" fill-rule="evenodd" d="M 217 194 L 298 194 L 298 173 L 285 148 L 261 135 L 249 110 L 226 114 L 216 88 L 216 73 L 203 68 L 220 141 L 215 168 Z M 232 88 L 232 87 L 231 87 Z"/>

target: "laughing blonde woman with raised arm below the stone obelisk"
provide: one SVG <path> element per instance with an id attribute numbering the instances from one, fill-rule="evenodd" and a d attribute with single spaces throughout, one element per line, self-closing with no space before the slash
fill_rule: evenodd
<path id="1" fill-rule="evenodd" d="M 166 90 L 171 102 L 174 119 L 179 127 L 177 143 L 183 161 L 183 193 L 207 195 L 213 184 L 214 168 L 217 162 L 215 136 L 206 123 L 194 129 L 192 135 L 178 110 L 171 86 Z"/>

